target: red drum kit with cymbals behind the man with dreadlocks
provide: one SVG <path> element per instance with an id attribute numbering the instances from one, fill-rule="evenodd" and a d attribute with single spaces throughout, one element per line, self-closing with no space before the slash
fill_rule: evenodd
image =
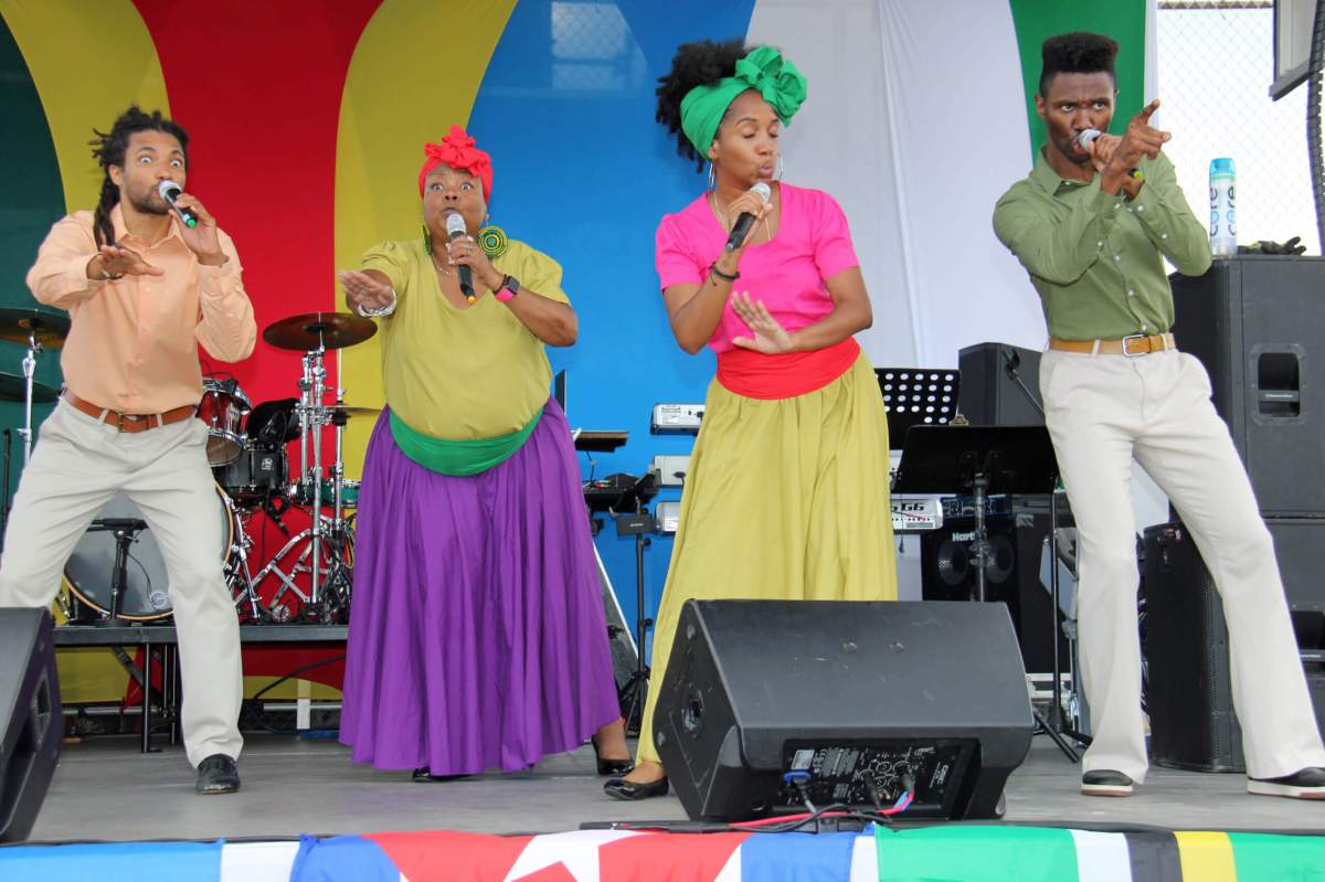
<path id="1" fill-rule="evenodd" d="M 32 405 L 58 397 L 58 391 L 33 380 L 36 359 L 44 350 L 64 346 L 69 326 L 60 314 L 0 309 L 0 339 L 26 347 L 21 377 L 0 372 L 0 400 L 25 403 L 24 428 L 17 430 L 25 462 L 32 448 Z M 221 565 L 241 621 L 342 624 L 348 618 L 359 482 L 344 477 L 344 426 L 380 411 L 346 405 L 344 389 L 326 383 L 325 358 L 327 351 L 367 340 L 376 330 L 371 320 L 347 313 L 292 315 L 268 326 L 264 340 L 302 352 L 297 397 L 254 407 L 233 377 L 203 380 L 197 416 L 207 424 L 207 458 L 217 485 Z M 330 462 L 323 449 L 326 426 L 335 437 Z M 286 448 L 293 441 L 298 441 L 298 465 L 292 475 Z M 290 509 L 309 519 L 294 535 L 282 522 Z M 249 526 L 258 514 L 289 538 L 254 572 Z M 129 497 L 118 494 L 74 548 L 61 604 L 70 621 L 164 621 L 172 614 L 167 584 L 166 563 L 147 523 Z"/>

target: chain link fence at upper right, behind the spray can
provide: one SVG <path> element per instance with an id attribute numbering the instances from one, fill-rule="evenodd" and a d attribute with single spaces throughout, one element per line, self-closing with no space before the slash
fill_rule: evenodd
<path id="1" fill-rule="evenodd" d="M 1269 98 L 1275 9 L 1269 0 L 1158 3 L 1157 114 L 1165 152 L 1198 217 L 1210 205 L 1210 160 L 1238 168 L 1238 241 L 1301 236 L 1320 253 L 1306 150 L 1306 86 Z M 1120 107 L 1120 115 L 1134 113 Z"/>

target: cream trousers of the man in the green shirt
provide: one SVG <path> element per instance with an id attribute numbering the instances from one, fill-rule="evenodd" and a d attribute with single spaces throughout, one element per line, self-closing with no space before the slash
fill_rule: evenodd
<path id="1" fill-rule="evenodd" d="M 1094 728 L 1084 771 L 1146 775 L 1133 458 L 1181 513 L 1223 600 L 1247 773 L 1325 765 L 1275 547 L 1204 366 L 1178 351 L 1049 350 L 1040 391 L 1080 542 L 1081 675 Z"/>

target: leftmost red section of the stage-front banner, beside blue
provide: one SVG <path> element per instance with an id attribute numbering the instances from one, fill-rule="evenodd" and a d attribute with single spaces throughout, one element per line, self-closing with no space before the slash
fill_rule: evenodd
<path id="1" fill-rule="evenodd" d="M 454 882 L 505 879 L 534 837 L 427 830 L 370 833 L 366 838 L 376 842 L 409 882 Z"/>

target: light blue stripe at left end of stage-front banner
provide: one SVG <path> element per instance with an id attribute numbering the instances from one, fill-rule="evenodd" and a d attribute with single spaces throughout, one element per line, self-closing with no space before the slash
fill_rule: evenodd
<path id="1" fill-rule="evenodd" d="M 4 882 L 216 882 L 220 842 L 20 845 L 0 849 Z"/>

